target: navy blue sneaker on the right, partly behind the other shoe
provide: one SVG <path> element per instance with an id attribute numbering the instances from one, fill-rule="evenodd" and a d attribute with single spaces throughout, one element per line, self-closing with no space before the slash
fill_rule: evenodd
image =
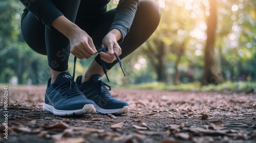
<path id="1" fill-rule="evenodd" d="M 96 111 L 102 114 L 123 114 L 129 112 L 129 104 L 115 99 L 108 90 L 111 87 L 102 81 L 101 75 L 94 75 L 81 84 L 82 76 L 78 76 L 76 83 L 81 92 L 96 104 Z M 108 88 L 106 88 L 108 87 Z"/>

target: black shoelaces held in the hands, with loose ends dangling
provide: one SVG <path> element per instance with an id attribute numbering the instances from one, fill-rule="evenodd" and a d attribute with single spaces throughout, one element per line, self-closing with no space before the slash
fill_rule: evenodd
<path id="1" fill-rule="evenodd" d="M 106 47 L 103 46 L 101 49 L 97 50 L 97 52 L 98 52 L 98 53 L 99 53 L 99 52 L 104 52 L 104 53 L 106 53 L 106 52 L 108 52 L 108 49 L 106 49 Z M 120 58 L 118 57 L 118 55 L 117 55 L 115 52 L 114 52 L 114 54 L 115 54 L 116 59 L 117 59 L 119 65 L 120 65 L 120 67 L 121 67 L 121 69 L 122 69 L 123 75 L 125 76 L 125 73 L 124 73 L 124 71 L 123 71 L 123 67 L 122 67 L 121 60 L 120 60 Z M 73 70 L 73 76 L 72 76 L 72 79 L 73 79 L 73 80 L 74 80 L 74 78 L 75 78 L 76 59 L 77 59 L 77 58 L 76 58 L 76 56 L 75 56 L 75 57 L 74 57 L 74 70 Z M 106 79 L 108 79 L 108 81 L 110 82 L 109 77 L 108 77 L 108 75 L 106 74 L 106 65 L 105 65 L 105 62 L 102 61 L 101 59 L 100 59 L 100 62 L 101 62 L 101 66 L 102 66 L 102 68 L 103 68 L 103 72 L 104 72 L 104 74 L 106 75 Z"/>

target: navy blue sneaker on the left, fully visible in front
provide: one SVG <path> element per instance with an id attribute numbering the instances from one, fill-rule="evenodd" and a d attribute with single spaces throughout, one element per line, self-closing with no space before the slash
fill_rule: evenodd
<path id="1" fill-rule="evenodd" d="M 43 111 L 58 116 L 95 113 L 95 103 L 87 99 L 78 89 L 69 73 L 61 73 L 51 85 L 51 78 L 45 94 Z"/>

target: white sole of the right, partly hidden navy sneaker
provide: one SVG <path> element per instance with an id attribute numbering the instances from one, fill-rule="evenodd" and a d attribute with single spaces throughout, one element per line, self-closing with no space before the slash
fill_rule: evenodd
<path id="1" fill-rule="evenodd" d="M 101 114 L 124 114 L 129 112 L 129 106 L 124 106 L 120 109 L 103 109 L 96 105 L 96 111 Z"/>

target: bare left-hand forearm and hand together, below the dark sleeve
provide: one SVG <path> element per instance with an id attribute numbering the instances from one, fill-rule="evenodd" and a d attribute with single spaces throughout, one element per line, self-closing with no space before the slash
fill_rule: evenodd
<path id="1" fill-rule="evenodd" d="M 92 38 L 65 16 L 54 19 L 52 26 L 69 38 L 70 52 L 78 59 L 88 59 L 97 54 Z"/>

